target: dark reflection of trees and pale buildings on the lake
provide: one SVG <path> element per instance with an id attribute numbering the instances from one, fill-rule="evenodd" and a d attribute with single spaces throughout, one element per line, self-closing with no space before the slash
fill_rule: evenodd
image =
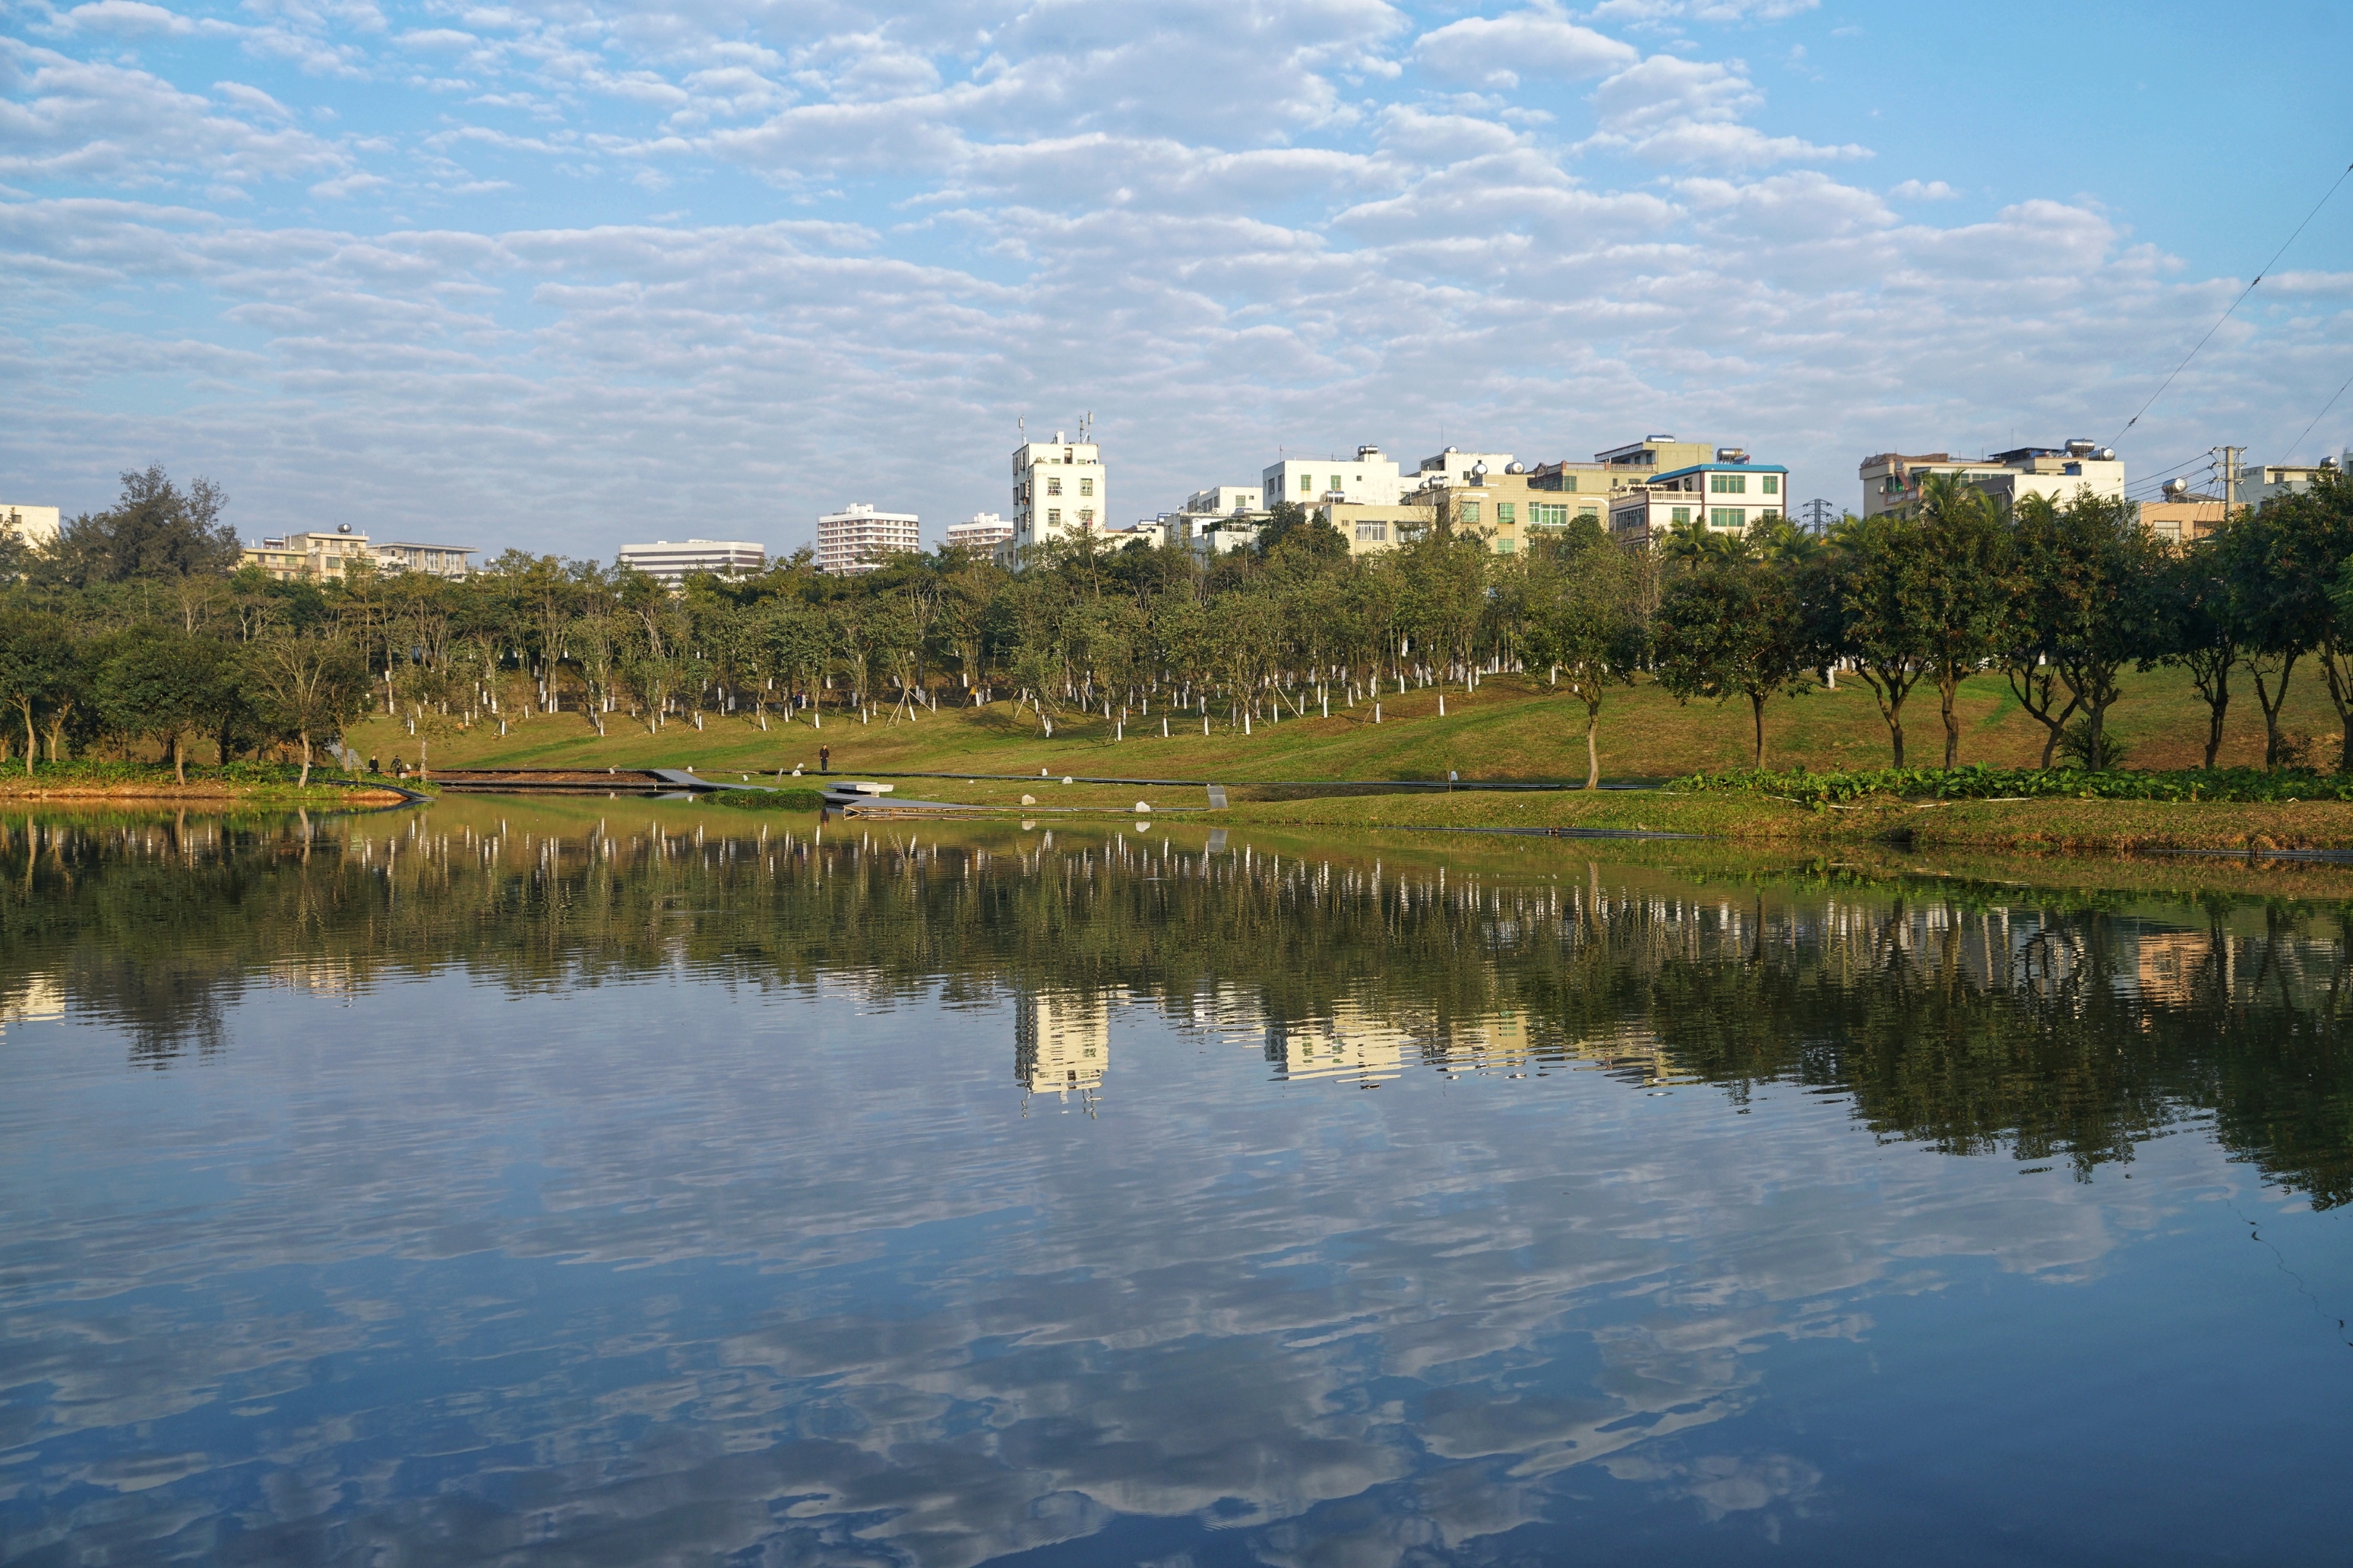
<path id="1" fill-rule="evenodd" d="M 2353 1197 L 2346 905 L 2120 912 L 1791 870 L 1555 856 L 1482 877 L 1428 851 L 1212 853 L 1184 832 L 471 806 L 0 823 L 0 1009 L 59 992 L 167 1067 L 221 1051 L 252 985 L 367 992 L 447 966 L 511 992 L 699 973 L 878 1004 L 1014 994 L 1016 1084 L 1094 1098 L 1118 999 L 1264 1046 L 1289 1079 L 1802 1084 L 1887 1138 L 2078 1173 L 2212 1117 L 2315 1206 Z"/>

